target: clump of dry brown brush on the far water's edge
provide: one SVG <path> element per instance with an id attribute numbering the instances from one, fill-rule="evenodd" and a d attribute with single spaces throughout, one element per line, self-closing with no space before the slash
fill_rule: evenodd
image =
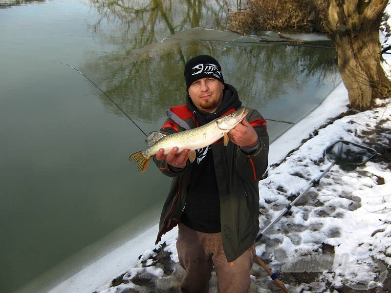
<path id="1" fill-rule="evenodd" d="M 232 29 L 254 31 L 325 32 L 328 0 L 247 0 L 230 15 Z"/>

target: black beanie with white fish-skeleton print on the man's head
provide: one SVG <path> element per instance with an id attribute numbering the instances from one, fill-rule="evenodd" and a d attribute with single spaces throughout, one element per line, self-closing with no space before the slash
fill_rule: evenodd
<path id="1" fill-rule="evenodd" d="M 205 77 L 213 77 L 224 84 L 220 64 L 209 55 L 193 57 L 185 65 L 186 89 L 196 80 Z"/>

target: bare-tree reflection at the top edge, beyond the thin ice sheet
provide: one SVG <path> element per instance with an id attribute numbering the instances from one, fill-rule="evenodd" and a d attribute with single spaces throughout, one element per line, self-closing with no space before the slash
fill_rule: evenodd
<path id="1" fill-rule="evenodd" d="M 194 27 L 223 30 L 228 10 L 236 7 L 233 0 L 90 0 L 90 4 L 100 16 L 90 24 L 92 32 L 116 45 L 121 42 L 127 49 L 141 48 Z M 109 33 L 102 35 L 102 30 Z"/>

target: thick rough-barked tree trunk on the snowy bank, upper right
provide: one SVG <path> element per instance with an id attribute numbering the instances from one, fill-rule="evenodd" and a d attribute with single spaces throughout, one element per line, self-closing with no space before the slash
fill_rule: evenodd
<path id="1" fill-rule="evenodd" d="M 391 82 L 381 66 L 379 28 L 388 0 L 330 0 L 325 28 L 334 41 L 349 105 L 358 110 L 383 99 Z"/>

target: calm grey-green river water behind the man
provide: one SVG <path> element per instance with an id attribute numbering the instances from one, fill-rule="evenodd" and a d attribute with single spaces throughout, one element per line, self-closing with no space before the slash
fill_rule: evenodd
<path id="1" fill-rule="evenodd" d="M 267 119 L 271 140 L 340 82 L 333 50 L 230 32 L 236 3 L 0 0 L 1 292 L 119 227 L 129 238 L 155 224 L 170 180 L 153 165 L 139 174 L 128 157 L 169 106 L 184 103 L 191 57 L 219 61 L 243 104 Z"/>

